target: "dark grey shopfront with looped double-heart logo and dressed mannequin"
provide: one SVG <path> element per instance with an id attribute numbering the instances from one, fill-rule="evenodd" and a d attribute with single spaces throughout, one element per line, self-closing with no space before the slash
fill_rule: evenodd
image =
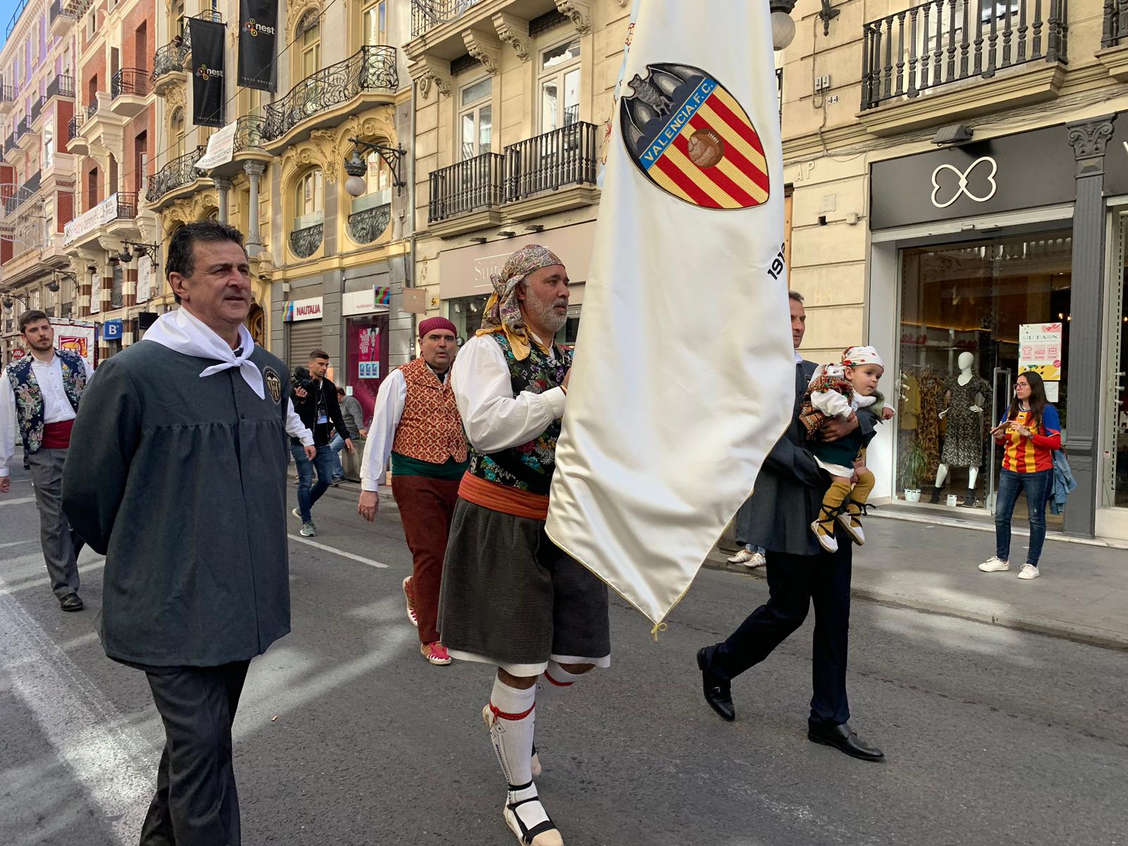
<path id="1" fill-rule="evenodd" d="M 1050 528 L 1094 534 L 1095 506 L 1116 500 L 1120 478 L 1109 472 L 1099 491 L 1101 347 L 1122 325 L 1122 309 L 1105 320 L 1100 307 L 1111 227 L 1091 180 L 1107 140 L 1057 125 L 872 165 L 869 337 L 898 411 L 871 449 L 879 495 L 952 517 L 992 512 L 1001 455 L 988 430 L 1019 373 L 1037 369 L 1078 482 Z M 1113 468 L 1118 437 L 1107 438 Z M 1128 504 L 1128 485 L 1121 496 Z"/>

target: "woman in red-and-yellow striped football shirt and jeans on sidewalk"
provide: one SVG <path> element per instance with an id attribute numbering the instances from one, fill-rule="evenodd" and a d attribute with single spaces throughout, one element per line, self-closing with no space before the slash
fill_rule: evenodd
<path id="1" fill-rule="evenodd" d="M 1037 579 L 1046 543 L 1046 503 L 1054 490 L 1054 451 L 1061 449 L 1061 423 L 1057 408 L 1046 402 L 1046 386 L 1039 373 L 1028 370 L 1019 374 L 1006 416 L 990 433 L 1003 447 L 1003 469 L 995 500 L 995 554 L 979 569 L 985 573 L 1011 569 L 1011 518 L 1019 494 L 1024 493 L 1030 548 L 1019 578 Z"/>

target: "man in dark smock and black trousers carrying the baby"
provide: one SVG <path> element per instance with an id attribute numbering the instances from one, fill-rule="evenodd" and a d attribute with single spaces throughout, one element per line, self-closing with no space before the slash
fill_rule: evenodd
<path id="1" fill-rule="evenodd" d="M 797 349 L 807 331 L 803 298 L 791 297 L 791 331 L 795 352 L 794 415 L 791 426 L 772 448 L 752 494 L 760 523 L 757 537 L 767 548 L 768 601 L 757 608 L 728 640 L 697 651 L 705 702 L 723 720 L 735 720 L 732 679 L 772 654 L 803 625 L 814 603 L 811 713 L 807 737 L 864 760 L 881 760 L 880 749 L 864 743 L 849 725 L 846 696 L 846 659 L 849 641 L 849 580 L 852 545 L 837 552 L 822 548 L 811 522 L 822 508 L 829 484 L 826 472 L 807 449 L 807 428 L 800 420 L 801 403 L 816 364 L 804 361 Z M 874 417 L 861 409 L 848 420 L 823 423 L 821 437 L 840 440 L 854 430 L 873 431 Z"/>

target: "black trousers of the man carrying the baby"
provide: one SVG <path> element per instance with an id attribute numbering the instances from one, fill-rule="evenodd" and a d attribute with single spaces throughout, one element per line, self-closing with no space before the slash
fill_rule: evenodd
<path id="1" fill-rule="evenodd" d="M 849 645 L 849 579 L 853 548 L 819 555 L 767 554 L 768 601 L 740 628 L 707 652 L 710 669 L 733 679 L 772 654 L 803 625 L 814 603 L 811 661 L 811 723 L 838 725 L 849 720 L 846 653 Z"/>

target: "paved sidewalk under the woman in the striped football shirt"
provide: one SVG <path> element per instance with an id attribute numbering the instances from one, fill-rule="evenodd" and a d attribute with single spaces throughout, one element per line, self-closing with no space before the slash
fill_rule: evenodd
<path id="1" fill-rule="evenodd" d="M 1128 650 L 1128 552 L 1047 539 L 1041 578 L 1022 581 L 1019 567 L 981 573 L 995 538 L 970 528 L 871 514 L 867 543 L 854 549 L 853 593 L 904 608 L 1041 632 Z M 1016 535 L 1011 557 L 1021 565 L 1026 538 Z M 713 550 L 705 566 L 751 573 Z"/>

